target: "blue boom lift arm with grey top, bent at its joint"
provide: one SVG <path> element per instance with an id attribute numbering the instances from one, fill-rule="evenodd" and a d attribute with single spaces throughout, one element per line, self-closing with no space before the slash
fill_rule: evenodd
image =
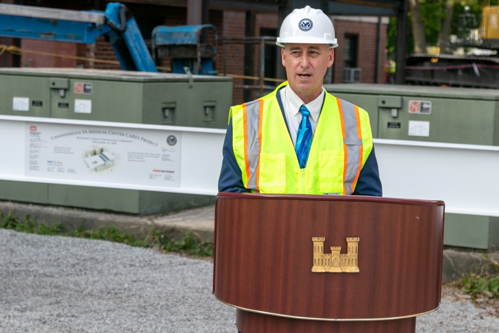
<path id="1" fill-rule="evenodd" d="M 74 43 L 105 36 L 122 69 L 157 71 L 137 22 L 119 2 L 108 3 L 104 12 L 0 3 L 0 36 Z"/>

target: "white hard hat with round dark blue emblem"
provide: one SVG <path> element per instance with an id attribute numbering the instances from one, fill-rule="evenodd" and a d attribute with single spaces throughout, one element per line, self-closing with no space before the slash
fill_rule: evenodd
<path id="1" fill-rule="evenodd" d="M 281 47 L 286 43 L 338 46 L 331 19 L 322 10 L 310 6 L 294 9 L 284 18 L 275 43 Z"/>

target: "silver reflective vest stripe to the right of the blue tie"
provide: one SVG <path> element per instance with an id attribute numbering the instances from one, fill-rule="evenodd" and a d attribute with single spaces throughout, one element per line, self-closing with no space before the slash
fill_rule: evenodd
<path id="1" fill-rule="evenodd" d="M 341 103 L 341 110 L 343 112 L 343 121 L 345 124 L 345 138 L 343 144 L 346 145 L 347 153 L 347 168 L 344 180 L 346 195 L 353 193 L 352 185 L 360 164 L 360 146 L 362 146 L 362 139 L 359 138 L 357 131 L 357 114 L 355 106 L 352 103 L 339 99 Z"/>

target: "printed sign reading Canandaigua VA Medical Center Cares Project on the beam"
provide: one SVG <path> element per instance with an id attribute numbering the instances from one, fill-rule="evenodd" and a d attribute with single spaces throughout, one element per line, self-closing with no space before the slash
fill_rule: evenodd
<path id="1" fill-rule="evenodd" d="M 25 175 L 180 186 L 181 133 L 26 122 Z"/>

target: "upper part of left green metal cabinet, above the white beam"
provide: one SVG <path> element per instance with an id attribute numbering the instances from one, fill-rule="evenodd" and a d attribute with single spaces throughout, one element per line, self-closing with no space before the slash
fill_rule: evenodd
<path id="1" fill-rule="evenodd" d="M 232 78 L 209 75 L 0 68 L 0 87 L 0 114 L 32 117 L 225 129 L 232 104 Z M 13 110 L 14 97 L 29 110 Z"/>

